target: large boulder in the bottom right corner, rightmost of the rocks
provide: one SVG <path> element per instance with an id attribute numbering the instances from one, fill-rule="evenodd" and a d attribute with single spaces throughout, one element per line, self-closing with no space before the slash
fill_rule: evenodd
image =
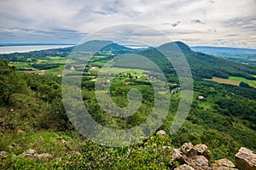
<path id="1" fill-rule="evenodd" d="M 240 170 L 256 170 L 256 154 L 252 150 L 241 147 L 236 153 L 236 167 Z"/>

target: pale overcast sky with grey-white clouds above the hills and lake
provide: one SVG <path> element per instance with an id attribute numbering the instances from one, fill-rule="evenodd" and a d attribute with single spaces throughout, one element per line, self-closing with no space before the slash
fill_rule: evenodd
<path id="1" fill-rule="evenodd" d="M 190 46 L 256 48 L 256 0 L 0 0 L 0 43 L 77 44 L 124 24 Z"/>

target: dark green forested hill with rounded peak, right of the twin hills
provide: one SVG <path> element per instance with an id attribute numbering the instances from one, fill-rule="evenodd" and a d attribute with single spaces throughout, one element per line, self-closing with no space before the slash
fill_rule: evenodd
<path id="1" fill-rule="evenodd" d="M 183 52 L 189 62 L 189 67 L 194 77 L 212 78 L 212 77 L 246 77 L 247 79 L 255 80 L 252 75 L 256 75 L 256 67 L 253 65 L 243 65 L 230 61 L 228 59 L 220 59 L 213 55 L 202 54 L 192 51 L 188 45 L 183 42 L 170 42 L 161 45 L 161 50 L 174 49 L 173 43 Z M 163 54 L 160 54 L 158 48 L 147 49 L 137 52 L 152 59 L 165 72 L 174 72 L 172 65 Z M 174 49 L 174 50 L 179 50 Z M 170 57 L 170 56 L 169 56 Z M 172 56 L 171 56 L 172 57 Z"/>

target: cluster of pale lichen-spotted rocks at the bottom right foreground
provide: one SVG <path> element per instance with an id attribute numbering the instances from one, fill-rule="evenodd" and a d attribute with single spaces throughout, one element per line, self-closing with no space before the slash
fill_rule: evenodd
<path id="1" fill-rule="evenodd" d="M 212 164 L 210 162 L 213 162 Z M 236 154 L 236 166 L 227 159 L 211 161 L 211 152 L 206 144 L 185 143 L 180 149 L 172 150 L 172 165 L 181 166 L 175 170 L 256 170 L 256 155 L 251 150 L 241 148 Z"/>

